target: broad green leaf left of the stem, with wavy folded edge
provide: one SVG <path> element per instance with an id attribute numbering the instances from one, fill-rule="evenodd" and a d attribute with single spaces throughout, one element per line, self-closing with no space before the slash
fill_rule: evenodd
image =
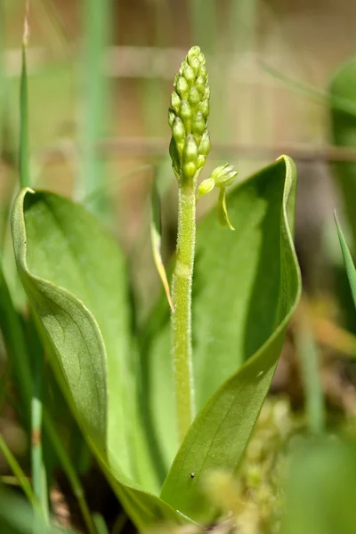
<path id="1" fill-rule="evenodd" d="M 135 477 L 134 350 L 115 239 L 82 206 L 29 189 L 15 200 L 12 239 L 57 379 L 127 513 L 140 529 L 189 521 Z"/>

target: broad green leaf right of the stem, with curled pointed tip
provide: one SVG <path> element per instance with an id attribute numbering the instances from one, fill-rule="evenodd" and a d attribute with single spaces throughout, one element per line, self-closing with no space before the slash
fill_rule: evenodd
<path id="1" fill-rule="evenodd" d="M 291 236 L 295 186 L 293 161 L 279 158 L 228 196 L 235 232 L 216 223 L 214 213 L 198 225 L 192 312 L 197 408 L 202 411 L 161 493 L 195 520 L 208 513 L 198 491 L 206 469 L 239 464 L 299 297 Z M 150 320 L 142 344 L 152 456 L 162 474 L 178 449 L 169 320 L 163 307 Z"/>

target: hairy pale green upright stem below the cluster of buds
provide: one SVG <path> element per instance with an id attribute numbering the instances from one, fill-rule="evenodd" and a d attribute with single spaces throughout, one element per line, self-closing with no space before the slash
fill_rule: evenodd
<path id="1" fill-rule="evenodd" d="M 191 354 L 191 284 L 193 277 L 196 198 L 194 189 L 180 187 L 177 255 L 172 283 L 175 312 L 172 314 L 175 404 L 179 439 L 182 442 L 194 417 Z"/>

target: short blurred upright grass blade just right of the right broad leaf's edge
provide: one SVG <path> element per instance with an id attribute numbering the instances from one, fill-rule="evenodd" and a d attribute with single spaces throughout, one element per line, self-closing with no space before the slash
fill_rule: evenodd
<path id="1" fill-rule="evenodd" d="M 302 374 L 305 411 L 309 429 L 320 434 L 325 428 L 325 403 L 320 382 L 318 348 L 308 318 L 307 304 L 302 300 L 295 314 L 295 344 Z"/>

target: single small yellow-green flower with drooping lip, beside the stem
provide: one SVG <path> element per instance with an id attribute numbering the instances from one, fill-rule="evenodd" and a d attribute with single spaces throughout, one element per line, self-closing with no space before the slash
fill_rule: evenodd
<path id="1" fill-rule="evenodd" d="M 227 163 L 225 163 L 225 165 L 216 167 L 210 175 L 210 178 L 207 178 L 206 180 L 200 183 L 197 192 L 198 202 L 198 199 L 200 197 L 203 197 L 204 195 L 207 195 L 207 193 L 210 193 L 210 191 L 213 190 L 214 187 L 218 187 L 220 189 L 219 198 L 217 201 L 218 219 L 220 223 L 223 224 L 223 226 L 229 226 L 231 230 L 235 229 L 229 220 L 229 215 L 227 212 L 226 188 L 232 185 L 233 182 L 235 182 L 235 178 L 237 175 L 238 171 L 236 171 L 232 165 L 228 165 Z"/>

